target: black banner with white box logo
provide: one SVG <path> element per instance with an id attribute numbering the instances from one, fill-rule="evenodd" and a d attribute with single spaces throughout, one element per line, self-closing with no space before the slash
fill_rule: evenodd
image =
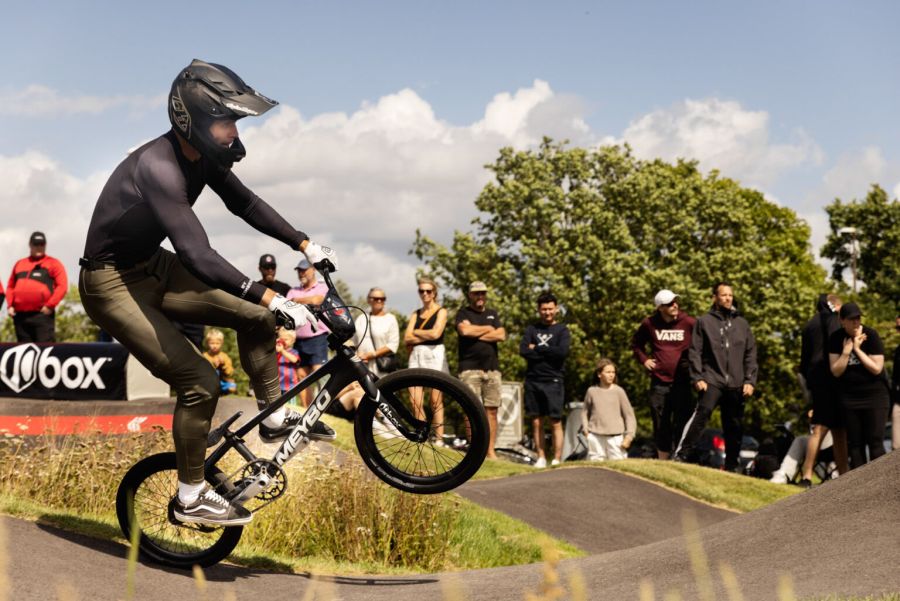
<path id="1" fill-rule="evenodd" d="M 118 343 L 0 344 L 0 396 L 124 400 L 127 360 Z"/>

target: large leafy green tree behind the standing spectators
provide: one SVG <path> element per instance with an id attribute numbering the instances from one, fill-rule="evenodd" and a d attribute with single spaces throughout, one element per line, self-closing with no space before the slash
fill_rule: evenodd
<path id="1" fill-rule="evenodd" d="M 518 343 L 537 318 L 537 295 L 551 290 L 572 333 L 569 399 L 583 394 L 600 356 L 618 363 L 620 382 L 641 399 L 647 378 L 629 343 L 656 291 L 677 291 L 699 315 L 711 286 L 728 280 L 758 342 L 755 424 L 781 419 L 799 398 L 799 330 L 825 273 L 793 211 L 716 171 L 704 176 L 696 162 L 641 161 L 627 146 L 545 138 L 535 151 L 502 149 L 487 168 L 494 178 L 476 200 L 474 232 L 456 232 L 450 248 L 418 232 L 413 252 L 457 303 L 472 280 L 488 283 L 509 332 L 506 378 L 522 377 Z"/>

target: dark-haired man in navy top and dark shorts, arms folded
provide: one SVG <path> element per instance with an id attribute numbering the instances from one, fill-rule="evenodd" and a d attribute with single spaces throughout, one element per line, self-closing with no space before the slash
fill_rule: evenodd
<path id="1" fill-rule="evenodd" d="M 562 457 L 562 413 L 565 404 L 563 386 L 564 364 L 569 354 L 569 328 L 556 322 L 559 306 L 549 292 L 537 299 L 541 321 L 525 328 L 519 354 L 528 361 L 525 372 L 525 414 L 531 418 L 532 435 L 538 460 L 535 467 L 547 467 L 544 452 L 542 418 L 550 420 L 553 430 L 553 460 L 557 465 Z"/>

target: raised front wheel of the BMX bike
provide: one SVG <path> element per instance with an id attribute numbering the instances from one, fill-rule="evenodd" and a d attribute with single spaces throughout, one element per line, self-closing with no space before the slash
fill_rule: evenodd
<path id="1" fill-rule="evenodd" d="M 452 428 L 454 440 L 463 435 L 466 444 L 437 444 L 432 437 L 416 442 L 397 432 L 376 428 L 378 407 L 363 400 L 354 423 L 356 448 L 376 476 L 405 492 L 435 494 L 456 488 L 475 475 L 487 454 L 489 430 L 484 407 L 468 386 L 443 372 L 417 368 L 388 374 L 378 380 L 377 387 L 382 395 L 390 395 L 411 412 L 412 390 L 421 387 L 423 398 L 429 398 L 428 402 L 423 400 L 422 408 L 431 422 L 432 435 L 439 432 L 439 426 L 443 426 L 445 435 Z M 441 393 L 439 404 L 443 413 L 439 415 L 444 419 L 440 423 L 432 421 L 437 407 L 430 400 L 434 397 L 428 389 Z M 443 437 L 440 440 L 443 442 Z"/>

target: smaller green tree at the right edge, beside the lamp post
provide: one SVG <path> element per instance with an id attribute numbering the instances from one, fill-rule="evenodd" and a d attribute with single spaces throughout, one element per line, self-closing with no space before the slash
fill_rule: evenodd
<path id="1" fill-rule="evenodd" d="M 866 284 L 861 300 L 879 319 L 893 320 L 900 310 L 900 202 L 873 184 L 864 200 L 836 198 L 825 211 L 831 233 L 822 256 L 833 261 L 832 277 L 842 282 L 852 269 L 855 244 L 857 274 Z"/>

